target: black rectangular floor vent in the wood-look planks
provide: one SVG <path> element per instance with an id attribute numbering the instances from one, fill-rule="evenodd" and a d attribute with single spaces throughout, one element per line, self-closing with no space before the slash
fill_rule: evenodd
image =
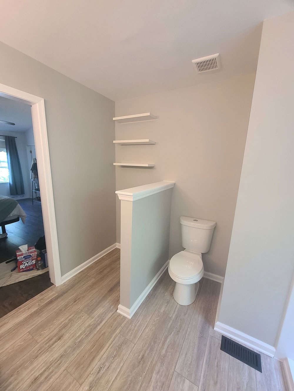
<path id="1" fill-rule="evenodd" d="M 244 362 L 257 371 L 262 372 L 261 357 L 259 353 L 255 353 L 253 350 L 245 348 L 244 346 L 240 345 L 240 343 L 232 341 L 224 335 L 221 337 L 221 350 L 228 353 L 230 356 L 235 357 L 235 359 Z"/>

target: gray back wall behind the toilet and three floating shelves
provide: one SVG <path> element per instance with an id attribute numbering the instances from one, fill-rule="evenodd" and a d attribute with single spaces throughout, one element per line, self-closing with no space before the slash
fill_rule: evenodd
<path id="1" fill-rule="evenodd" d="M 155 164 L 154 169 L 117 167 L 116 189 L 175 181 L 169 257 L 182 249 L 181 215 L 216 221 L 211 250 L 203 262 L 205 271 L 220 276 L 227 264 L 254 76 L 116 102 L 116 116 L 148 111 L 159 116 L 154 121 L 116 124 L 116 140 L 156 141 L 156 145 L 116 146 L 117 162 Z"/>

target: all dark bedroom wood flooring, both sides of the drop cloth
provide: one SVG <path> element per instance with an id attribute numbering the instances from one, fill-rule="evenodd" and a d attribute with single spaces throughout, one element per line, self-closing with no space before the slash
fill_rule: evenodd
<path id="1" fill-rule="evenodd" d="M 6 226 L 7 237 L 0 240 L 0 263 L 12 258 L 15 250 L 22 244 L 34 246 L 40 236 L 44 235 L 42 208 L 40 203 L 32 205 L 31 198 L 18 200 L 18 203 L 27 214 L 25 224 L 22 221 Z M 15 265 L 11 263 L 11 268 Z M 40 292 L 53 285 L 49 273 L 28 280 L 16 282 L 0 288 L 0 317 L 8 314 L 24 304 Z"/>

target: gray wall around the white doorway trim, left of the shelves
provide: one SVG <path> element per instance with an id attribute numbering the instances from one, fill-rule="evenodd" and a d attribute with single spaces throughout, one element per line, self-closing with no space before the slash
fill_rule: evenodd
<path id="1" fill-rule="evenodd" d="M 116 242 L 114 102 L 0 43 L 0 83 L 45 99 L 62 275 Z"/>

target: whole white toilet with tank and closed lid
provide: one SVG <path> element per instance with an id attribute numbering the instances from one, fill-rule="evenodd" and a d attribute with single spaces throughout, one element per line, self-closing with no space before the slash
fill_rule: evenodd
<path id="1" fill-rule="evenodd" d="M 199 282 L 204 274 L 202 253 L 207 253 L 216 222 L 181 216 L 184 251 L 172 256 L 169 275 L 176 282 L 174 300 L 189 305 L 196 299 Z"/>

